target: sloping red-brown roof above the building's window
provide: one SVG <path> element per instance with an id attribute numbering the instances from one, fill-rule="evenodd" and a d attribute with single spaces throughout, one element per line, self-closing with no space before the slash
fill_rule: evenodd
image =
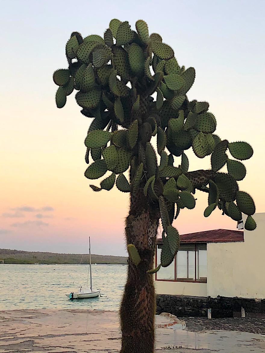
<path id="1" fill-rule="evenodd" d="M 214 229 L 180 235 L 181 243 L 231 243 L 234 241 L 244 241 L 243 231 L 232 231 L 231 229 Z M 157 243 L 163 243 L 162 238 L 157 239 Z"/>

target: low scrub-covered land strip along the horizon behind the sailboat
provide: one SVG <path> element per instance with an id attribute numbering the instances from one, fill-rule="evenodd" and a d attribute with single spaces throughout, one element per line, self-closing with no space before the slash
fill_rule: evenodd
<path id="1" fill-rule="evenodd" d="M 81 262 L 82 259 L 82 262 Z M 5 264 L 89 264 L 89 255 L 84 254 L 60 254 L 53 252 L 40 251 L 22 251 L 0 249 L 0 260 L 4 260 Z M 92 264 L 106 265 L 127 265 L 127 257 L 111 256 L 111 255 L 95 255 L 91 254 Z M 0 263 L 1 266 L 1 263 Z"/>

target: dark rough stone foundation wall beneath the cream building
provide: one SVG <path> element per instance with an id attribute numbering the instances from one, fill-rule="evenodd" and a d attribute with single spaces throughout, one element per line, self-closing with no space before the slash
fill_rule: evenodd
<path id="1" fill-rule="evenodd" d="M 228 297 L 188 297 L 184 295 L 157 294 L 157 313 L 169 312 L 178 317 L 205 316 L 212 309 L 212 317 L 241 316 L 241 307 L 246 317 L 265 317 L 265 299 L 255 300 Z"/>

